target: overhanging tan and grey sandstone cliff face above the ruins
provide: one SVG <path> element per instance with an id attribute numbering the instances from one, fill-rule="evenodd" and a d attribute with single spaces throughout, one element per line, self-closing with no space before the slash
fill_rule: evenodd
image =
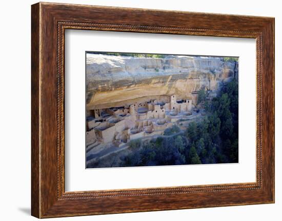
<path id="1" fill-rule="evenodd" d="M 236 62 L 219 57 L 143 58 L 87 54 L 87 109 L 127 105 L 142 97 L 175 94 L 191 97 L 201 89 L 216 90 L 233 78 Z"/>

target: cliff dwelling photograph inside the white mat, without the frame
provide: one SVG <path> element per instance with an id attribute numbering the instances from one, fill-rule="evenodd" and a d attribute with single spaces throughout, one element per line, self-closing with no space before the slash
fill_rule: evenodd
<path id="1" fill-rule="evenodd" d="M 238 163 L 238 57 L 86 51 L 86 168 Z"/>

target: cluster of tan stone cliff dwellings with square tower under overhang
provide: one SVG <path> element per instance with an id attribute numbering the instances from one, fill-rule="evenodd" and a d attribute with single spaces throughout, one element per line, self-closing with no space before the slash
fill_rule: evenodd
<path id="1" fill-rule="evenodd" d="M 121 146 L 132 139 L 163 134 L 191 110 L 191 99 L 177 101 L 175 95 L 169 96 L 168 103 L 153 99 L 125 107 L 94 109 L 87 119 L 86 144 Z"/>

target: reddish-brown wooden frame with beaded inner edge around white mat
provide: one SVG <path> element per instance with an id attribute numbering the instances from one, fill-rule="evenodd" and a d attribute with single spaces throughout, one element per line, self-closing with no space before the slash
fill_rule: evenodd
<path id="1" fill-rule="evenodd" d="M 104 11 L 113 16 L 103 16 Z M 131 13 L 146 15 L 147 19 L 130 18 Z M 95 15 L 92 17 L 90 14 Z M 119 15 L 123 15 L 124 18 L 117 19 L 116 17 L 122 17 Z M 171 16 L 175 18 L 174 22 L 157 21 L 160 17 Z M 184 22 L 184 25 L 176 26 L 175 24 L 179 21 Z M 208 23 L 210 29 L 206 28 Z M 227 24 L 233 25 L 226 29 Z M 66 29 L 255 38 L 257 50 L 256 182 L 65 192 L 64 50 Z M 47 42 L 47 39 L 50 42 Z M 266 107 L 272 110 L 268 116 L 264 110 Z M 47 112 L 50 115 L 47 116 Z M 131 206 L 126 204 L 127 200 L 131 200 Z M 154 204 L 155 200 L 158 200 L 158 205 Z M 273 202 L 273 18 L 51 3 L 38 3 L 32 6 L 32 215 L 57 217 Z"/>

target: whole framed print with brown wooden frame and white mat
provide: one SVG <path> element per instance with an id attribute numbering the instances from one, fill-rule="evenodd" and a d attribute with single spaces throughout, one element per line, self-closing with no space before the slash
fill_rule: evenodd
<path id="1" fill-rule="evenodd" d="M 274 203 L 274 18 L 32 5 L 32 215 Z"/>

